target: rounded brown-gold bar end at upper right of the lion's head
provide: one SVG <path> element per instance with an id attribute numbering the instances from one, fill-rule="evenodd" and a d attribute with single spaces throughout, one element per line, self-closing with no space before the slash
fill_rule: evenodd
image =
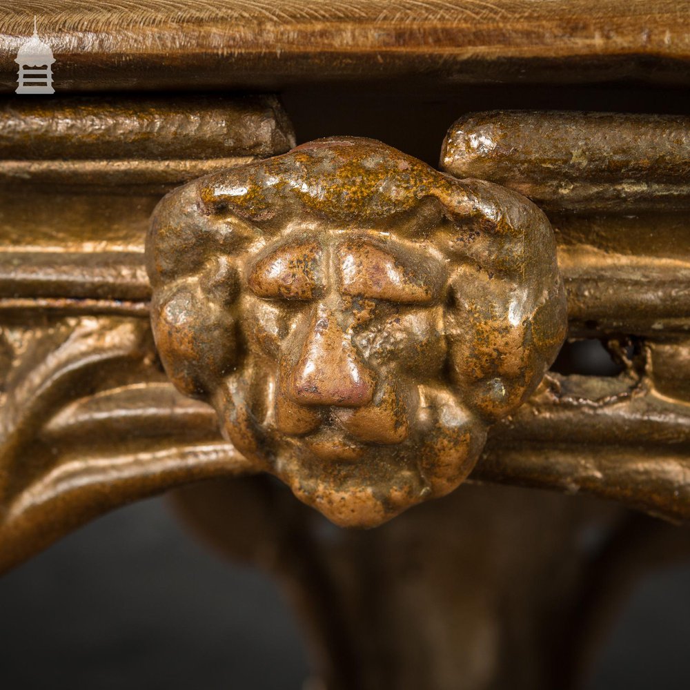
<path id="1" fill-rule="evenodd" d="M 690 117 L 477 112 L 449 130 L 441 167 L 504 184 L 549 211 L 687 211 Z"/>

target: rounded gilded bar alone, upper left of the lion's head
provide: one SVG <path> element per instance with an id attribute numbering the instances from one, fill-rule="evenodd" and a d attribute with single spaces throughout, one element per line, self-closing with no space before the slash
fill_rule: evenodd
<path id="1" fill-rule="evenodd" d="M 78 174 L 89 160 L 150 159 L 170 165 L 196 159 L 201 166 L 207 159 L 275 155 L 294 145 L 290 121 L 269 95 L 174 99 L 58 95 L 50 103 L 0 102 L 3 176 L 12 175 L 12 170 L 21 175 L 25 161 L 41 161 L 43 170 Z M 26 172 L 35 174 L 38 169 L 29 166 Z"/>

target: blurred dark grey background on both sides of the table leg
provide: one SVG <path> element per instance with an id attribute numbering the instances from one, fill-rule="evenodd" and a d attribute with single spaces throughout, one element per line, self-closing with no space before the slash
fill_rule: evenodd
<path id="1" fill-rule="evenodd" d="M 689 643 L 690 562 L 640 583 L 586 690 L 687 690 Z M 0 578 L 8 690 L 299 690 L 308 675 L 277 586 L 197 542 L 165 499 L 106 515 Z"/>

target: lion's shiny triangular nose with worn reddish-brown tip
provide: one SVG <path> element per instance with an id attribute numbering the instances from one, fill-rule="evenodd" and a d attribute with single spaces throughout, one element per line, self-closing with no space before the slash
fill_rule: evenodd
<path id="1" fill-rule="evenodd" d="M 317 307 L 290 375 L 290 397 L 306 405 L 359 407 L 371 402 L 375 378 L 333 311 Z"/>

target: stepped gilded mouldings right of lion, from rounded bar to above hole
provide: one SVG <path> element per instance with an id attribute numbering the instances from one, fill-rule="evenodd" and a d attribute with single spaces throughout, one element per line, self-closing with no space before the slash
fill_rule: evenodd
<path id="1" fill-rule="evenodd" d="M 480 112 L 453 124 L 441 164 L 546 210 L 573 335 L 690 331 L 690 118 Z"/>

